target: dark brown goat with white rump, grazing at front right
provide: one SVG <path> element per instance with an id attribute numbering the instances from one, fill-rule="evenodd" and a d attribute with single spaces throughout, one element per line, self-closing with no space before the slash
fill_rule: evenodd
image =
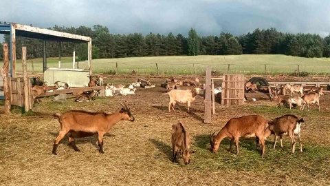
<path id="1" fill-rule="evenodd" d="M 274 149 L 277 143 L 277 136 L 280 136 L 281 147 L 282 144 L 282 136 L 290 136 L 292 140 L 292 153 L 294 154 L 294 149 L 296 145 L 296 141 L 294 140 L 294 136 L 298 136 L 300 152 L 303 152 L 303 145 L 301 144 L 300 138 L 300 126 L 301 123 L 305 122 L 303 118 L 299 119 L 297 116 L 292 114 L 287 114 L 278 118 L 274 118 L 273 121 L 268 122 L 269 126 L 265 130 L 264 138 L 270 136 L 270 134 L 275 135 L 274 139 Z"/>

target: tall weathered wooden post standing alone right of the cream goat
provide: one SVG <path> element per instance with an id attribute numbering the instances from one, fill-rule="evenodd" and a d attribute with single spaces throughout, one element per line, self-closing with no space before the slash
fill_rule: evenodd
<path id="1" fill-rule="evenodd" d="M 205 77 L 205 99 L 204 99 L 204 123 L 211 123 L 211 66 L 206 67 Z"/>

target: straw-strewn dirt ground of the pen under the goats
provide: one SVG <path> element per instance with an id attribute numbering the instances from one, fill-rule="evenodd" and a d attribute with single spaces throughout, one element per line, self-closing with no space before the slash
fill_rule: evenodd
<path id="1" fill-rule="evenodd" d="M 128 85 L 139 76 L 107 76 L 105 83 Z M 192 78 L 178 76 L 178 79 Z M 197 96 L 190 112 L 186 104 L 177 104 L 176 112 L 168 112 L 168 95 L 160 83 L 165 76 L 143 76 L 155 83 L 151 89 L 138 88 L 136 95 L 97 97 L 89 103 L 75 103 L 74 96 L 64 103 L 44 98 L 35 104 L 33 113 L 3 114 L 0 104 L 0 185 L 329 185 L 330 171 L 330 94 L 320 97 L 321 112 L 276 108 L 261 92 L 248 93 L 244 105 L 225 106 L 216 103 L 212 123 L 203 123 L 203 95 Z M 250 79 L 250 77 L 246 77 Z M 308 79 L 270 76 L 268 81 L 329 81 L 329 78 Z M 317 80 L 316 80 L 317 79 Z M 203 82 L 203 78 L 201 78 Z M 182 87 L 185 89 L 186 87 Z M 252 101 L 252 98 L 256 101 Z M 52 145 L 60 130 L 53 118 L 55 112 L 88 110 L 117 112 L 120 102 L 126 103 L 135 116 L 134 122 L 121 121 L 104 136 L 104 154 L 98 154 L 97 136 L 78 138 L 81 152 L 74 152 L 63 138 L 58 155 Z M 17 114 L 15 114 L 17 113 Z M 210 152 L 210 132 L 218 132 L 233 117 L 259 114 L 271 120 L 284 114 L 303 117 L 303 153 L 291 154 L 289 138 L 272 149 L 268 138 L 265 156 L 252 138 L 240 139 L 240 154 L 227 152 L 229 140 L 221 143 L 217 153 Z M 171 162 L 171 125 L 186 125 L 192 138 L 190 165 L 180 159 Z M 298 145 L 296 145 L 298 146 Z M 298 151 L 298 147 L 296 149 Z"/>

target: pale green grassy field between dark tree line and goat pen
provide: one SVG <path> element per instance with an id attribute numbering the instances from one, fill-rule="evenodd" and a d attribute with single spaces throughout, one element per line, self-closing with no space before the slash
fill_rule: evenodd
<path id="1" fill-rule="evenodd" d="M 28 71 L 42 72 L 42 59 L 28 60 Z M 72 68 L 72 58 L 62 58 L 62 68 Z M 93 60 L 93 72 L 113 74 L 116 72 L 116 63 L 119 74 L 129 74 L 135 70 L 137 74 L 203 74 L 206 65 L 212 65 L 212 70 L 219 73 L 243 74 L 292 74 L 296 70 L 308 72 L 311 75 L 330 76 L 330 59 L 300 58 L 285 55 L 256 55 L 244 54 L 240 56 L 157 56 L 133 57 L 122 59 Z M 157 66 L 156 66 L 157 63 Z M 228 71 L 228 64 L 229 71 Z M 2 66 L 2 64 L 0 63 Z M 266 65 L 266 66 L 265 66 Z M 58 67 L 57 58 L 47 59 L 47 67 Z M 86 61 L 79 62 L 79 68 L 88 68 Z M 266 69 L 265 69 L 266 68 Z M 195 69 L 195 70 L 194 70 Z M 21 71 L 21 60 L 17 61 L 17 70 Z M 265 73 L 266 72 L 266 73 Z"/>

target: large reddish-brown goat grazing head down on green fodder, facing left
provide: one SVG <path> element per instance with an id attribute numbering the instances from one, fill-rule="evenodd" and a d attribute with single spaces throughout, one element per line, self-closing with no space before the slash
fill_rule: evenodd
<path id="1" fill-rule="evenodd" d="M 263 146 L 262 155 L 265 154 L 264 131 L 267 128 L 267 121 L 259 115 L 242 116 L 240 118 L 231 118 L 220 130 L 217 136 L 214 133 L 210 135 L 210 145 L 212 152 L 217 152 L 223 138 L 230 138 L 229 152 L 232 149 L 232 143 L 236 143 L 236 154 L 239 154 L 239 137 L 256 137 L 257 143 Z"/>

